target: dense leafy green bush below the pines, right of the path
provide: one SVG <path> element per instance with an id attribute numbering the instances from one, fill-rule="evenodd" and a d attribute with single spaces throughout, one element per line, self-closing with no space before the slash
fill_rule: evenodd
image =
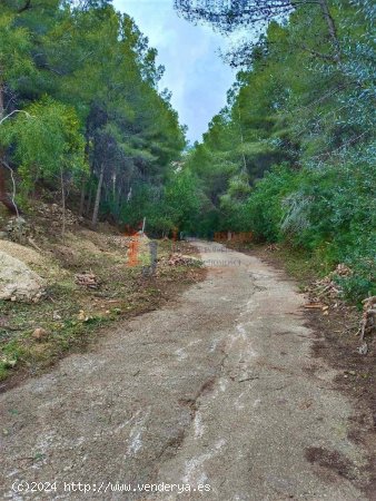
<path id="1" fill-rule="evenodd" d="M 245 205 L 257 240 L 289 240 L 327 268 L 347 264 L 354 275 L 339 282 L 356 302 L 376 294 L 375 168 L 359 158 L 299 171 L 275 167 Z"/>

